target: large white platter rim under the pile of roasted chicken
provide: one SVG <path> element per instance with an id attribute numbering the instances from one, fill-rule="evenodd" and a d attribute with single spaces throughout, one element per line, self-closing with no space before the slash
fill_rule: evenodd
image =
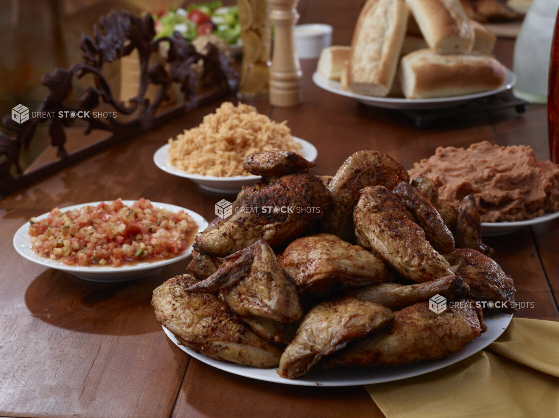
<path id="1" fill-rule="evenodd" d="M 243 366 L 236 363 L 220 362 L 203 354 L 197 353 L 195 350 L 179 344 L 174 334 L 163 326 L 163 330 L 167 337 L 179 348 L 192 357 L 197 358 L 201 362 L 210 364 L 229 373 L 239 374 L 240 376 L 250 377 L 253 379 L 264 380 L 268 382 L 285 383 L 286 385 L 301 386 L 355 386 L 368 385 L 369 383 L 390 382 L 408 377 L 418 376 L 419 374 L 429 373 L 451 364 L 457 363 L 466 357 L 470 357 L 494 342 L 504 333 L 506 327 L 509 326 L 512 314 L 501 314 L 485 318 L 487 331 L 476 338 L 458 353 L 453 353 L 442 360 L 423 362 L 418 364 L 409 364 L 407 366 L 396 367 L 353 367 L 353 368 L 336 368 L 324 370 L 315 367 L 311 372 L 297 379 L 286 379 L 277 373 L 276 368 L 261 369 L 252 366 Z"/>

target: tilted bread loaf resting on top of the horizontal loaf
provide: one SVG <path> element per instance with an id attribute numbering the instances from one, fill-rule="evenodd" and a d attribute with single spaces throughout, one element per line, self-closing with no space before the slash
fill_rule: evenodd
<path id="1" fill-rule="evenodd" d="M 460 0 L 407 1 L 430 49 L 451 55 L 472 50 L 470 20 Z"/>

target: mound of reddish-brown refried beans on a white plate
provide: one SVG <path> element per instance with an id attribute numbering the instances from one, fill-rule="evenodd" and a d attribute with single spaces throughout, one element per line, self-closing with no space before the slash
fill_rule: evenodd
<path id="1" fill-rule="evenodd" d="M 470 148 L 439 147 L 414 164 L 410 177 L 437 181 L 439 197 L 456 209 L 473 193 L 481 222 L 531 219 L 557 212 L 559 165 L 537 161 L 532 147 L 501 147 L 484 141 Z"/>

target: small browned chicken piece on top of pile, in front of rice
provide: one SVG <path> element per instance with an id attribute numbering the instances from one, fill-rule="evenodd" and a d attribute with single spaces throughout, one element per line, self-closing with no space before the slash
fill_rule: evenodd
<path id="1" fill-rule="evenodd" d="M 273 150 L 256 152 L 245 158 L 243 167 L 255 176 L 281 177 L 297 172 L 309 172 L 316 163 L 307 161 L 291 151 Z"/>

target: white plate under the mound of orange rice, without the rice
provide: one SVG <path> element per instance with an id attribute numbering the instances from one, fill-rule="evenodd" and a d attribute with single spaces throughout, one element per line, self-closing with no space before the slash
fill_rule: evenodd
<path id="1" fill-rule="evenodd" d="M 309 161 L 315 161 L 318 156 L 318 151 L 316 147 L 310 142 L 302 140 L 301 138 L 293 137 L 295 142 L 299 142 L 303 148 L 301 150 L 301 155 Z M 227 193 L 227 194 L 237 194 L 243 186 L 252 186 L 260 180 L 260 176 L 231 176 L 231 177 L 219 177 L 219 176 L 202 176 L 199 174 L 190 174 L 177 167 L 169 164 L 169 152 L 170 144 L 164 145 L 159 150 L 155 152 L 153 156 L 153 161 L 161 170 L 168 172 L 179 177 L 185 177 L 190 179 L 202 189 L 209 190 L 215 193 Z"/>

